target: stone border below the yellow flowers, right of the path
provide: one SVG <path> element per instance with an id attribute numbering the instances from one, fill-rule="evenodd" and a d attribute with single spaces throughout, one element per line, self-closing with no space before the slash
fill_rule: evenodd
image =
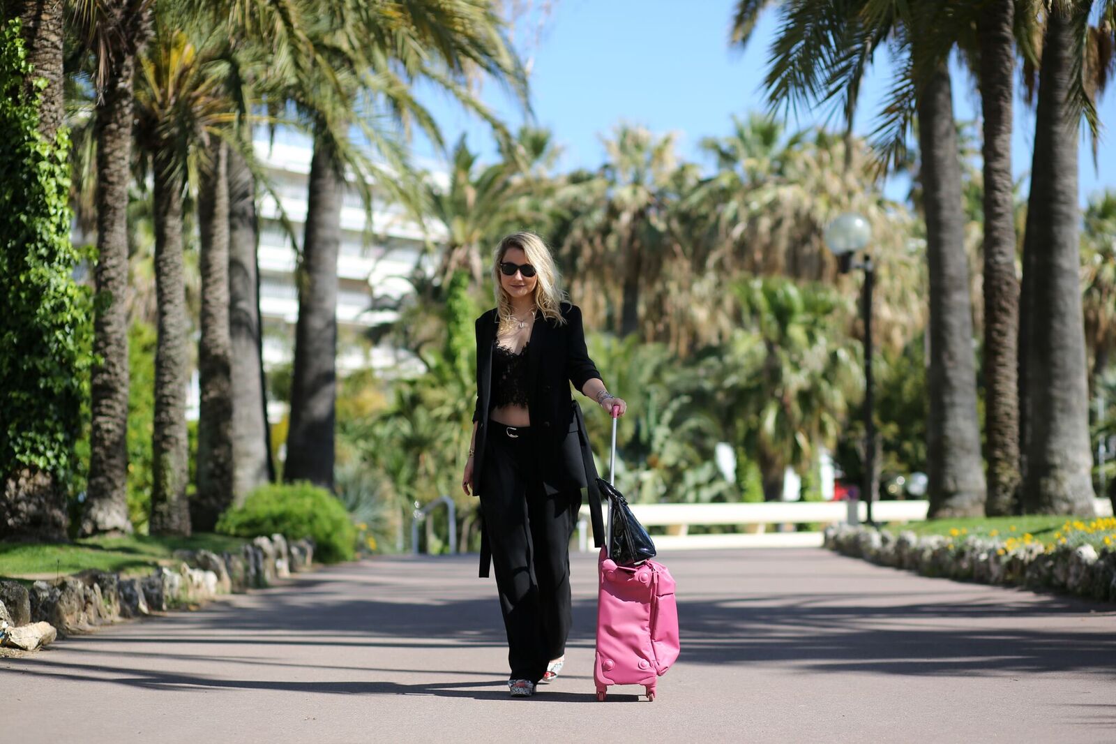
<path id="1" fill-rule="evenodd" d="M 966 535 L 894 535 L 886 530 L 847 524 L 826 527 L 825 547 L 872 563 L 984 584 L 1068 592 L 1116 602 L 1116 552 L 1097 553 L 1091 545 L 1040 543 L 1008 550 L 1004 541 Z"/>

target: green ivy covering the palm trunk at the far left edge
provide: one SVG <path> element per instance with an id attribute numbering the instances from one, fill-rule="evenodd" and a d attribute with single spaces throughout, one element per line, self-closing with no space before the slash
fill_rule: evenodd
<path id="1" fill-rule="evenodd" d="M 92 299 L 74 280 L 69 137 L 39 134 L 39 94 L 19 22 L 0 28 L 0 476 L 33 467 L 68 479 L 77 468 L 81 401 L 92 363 Z M 41 90 L 45 80 L 39 80 Z"/>

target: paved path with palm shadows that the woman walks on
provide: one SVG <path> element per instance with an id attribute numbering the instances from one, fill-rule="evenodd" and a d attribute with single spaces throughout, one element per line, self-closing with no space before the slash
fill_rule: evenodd
<path id="1" fill-rule="evenodd" d="M 654 703 L 594 699 L 593 556 L 530 699 L 475 556 L 384 557 L 0 659 L 0 742 L 1116 741 L 1110 605 L 820 550 L 665 562 L 683 649 Z"/>

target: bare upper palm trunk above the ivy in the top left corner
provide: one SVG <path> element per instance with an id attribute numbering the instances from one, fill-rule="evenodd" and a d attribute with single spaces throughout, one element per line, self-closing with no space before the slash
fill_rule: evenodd
<path id="1" fill-rule="evenodd" d="M 27 80 L 30 89 L 36 78 L 47 80 L 39 101 L 39 132 L 47 142 L 54 142 L 62 124 L 62 20 L 64 0 L 7 0 L 4 17 L 19 17 L 21 32 L 27 42 L 27 60 L 33 71 Z"/>

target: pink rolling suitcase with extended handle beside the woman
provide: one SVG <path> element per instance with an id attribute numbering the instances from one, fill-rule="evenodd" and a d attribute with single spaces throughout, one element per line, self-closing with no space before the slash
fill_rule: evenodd
<path id="1" fill-rule="evenodd" d="M 617 407 L 618 408 L 618 407 Z M 613 411 L 613 451 L 609 483 L 616 479 L 616 417 Z M 612 535 L 613 503 L 608 503 Z M 679 610 L 674 579 L 657 561 L 617 565 L 608 557 L 605 540 L 597 562 L 597 655 L 593 679 L 597 699 L 604 700 L 610 685 L 643 685 L 648 700 L 655 699 L 655 683 L 679 658 Z"/>

